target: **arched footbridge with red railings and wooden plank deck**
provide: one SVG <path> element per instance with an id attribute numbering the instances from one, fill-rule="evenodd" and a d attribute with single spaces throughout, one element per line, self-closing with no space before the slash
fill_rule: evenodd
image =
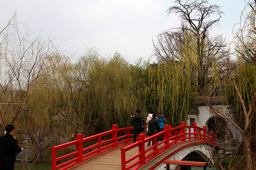
<path id="1" fill-rule="evenodd" d="M 90 137 L 82 138 L 82 134 L 78 134 L 73 142 L 52 147 L 52 169 L 155 169 L 188 147 L 216 147 L 213 132 L 206 127 L 199 128 L 196 123 L 181 122 L 176 128 L 164 125 L 163 131 L 150 137 L 140 134 L 134 143 L 131 130 L 133 127 L 112 125 L 112 130 Z M 159 137 L 163 140 L 157 142 Z M 151 140 L 154 145 L 148 147 Z"/>

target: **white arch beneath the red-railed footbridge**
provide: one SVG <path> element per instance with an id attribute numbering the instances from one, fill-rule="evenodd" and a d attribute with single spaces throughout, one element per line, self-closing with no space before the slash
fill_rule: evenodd
<path id="1" fill-rule="evenodd" d="M 198 157 L 201 157 L 201 160 L 200 160 L 201 162 L 213 163 L 213 152 L 215 152 L 215 147 L 208 144 L 191 145 L 171 155 L 171 157 L 169 157 L 168 159 L 181 161 L 186 159 L 186 157 L 191 156 L 191 154 L 196 153 Z M 174 169 L 176 168 L 176 166 L 177 165 L 170 165 L 170 168 Z M 155 168 L 155 170 L 165 170 L 165 169 L 166 169 L 166 164 L 160 164 Z"/>

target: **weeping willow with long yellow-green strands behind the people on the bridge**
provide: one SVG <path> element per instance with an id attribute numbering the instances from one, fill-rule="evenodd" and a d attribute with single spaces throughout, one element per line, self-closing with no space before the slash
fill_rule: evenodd
<path id="1" fill-rule="evenodd" d="M 188 30 L 165 36 L 165 43 L 171 43 L 177 51 L 172 60 L 149 67 L 149 93 L 152 94 L 151 105 L 166 115 L 166 123 L 177 126 L 196 106 L 198 93 L 195 77 L 200 60 L 195 38 Z"/>

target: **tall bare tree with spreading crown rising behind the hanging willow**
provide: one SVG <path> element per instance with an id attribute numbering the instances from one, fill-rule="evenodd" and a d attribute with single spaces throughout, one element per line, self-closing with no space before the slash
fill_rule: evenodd
<path id="1" fill-rule="evenodd" d="M 208 32 L 220 21 L 222 12 L 217 5 L 209 5 L 207 0 L 176 0 L 168 13 L 176 13 L 181 18 L 181 28 L 167 30 L 154 42 L 159 62 L 188 61 L 191 74 L 198 86 L 205 90 L 210 84 L 211 71 L 215 62 L 223 62 L 227 57 L 225 42 L 218 35 L 210 37 Z"/>

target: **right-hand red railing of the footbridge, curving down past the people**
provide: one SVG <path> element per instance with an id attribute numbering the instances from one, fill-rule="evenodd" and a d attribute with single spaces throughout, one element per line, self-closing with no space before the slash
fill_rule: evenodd
<path id="1" fill-rule="evenodd" d="M 164 140 L 157 142 L 157 139 L 164 135 Z M 154 145 L 149 148 L 145 148 L 145 143 L 154 140 Z M 215 135 L 212 131 L 206 130 L 206 126 L 199 128 L 196 123 L 193 125 L 185 125 L 185 122 L 181 122 L 181 126 L 171 128 L 169 125 L 164 125 L 164 130 L 152 135 L 145 137 L 139 135 L 139 141 L 132 145 L 127 145 L 121 148 L 121 163 L 122 170 L 126 169 L 138 169 L 143 166 L 151 159 L 159 156 L 159 154 L 165 152 L 170 147 L 180 144 L 181 142 L 198 141 L 198 143 L 208 143 L 216 146 Z M 164 144 L 164 145 L 162 145 Z M 133 157 L 126 159 L 126 152 L 134 147 L 139 147 L 138 154 Z M 127 165 L 129 164 L 129 165 Z"/>

